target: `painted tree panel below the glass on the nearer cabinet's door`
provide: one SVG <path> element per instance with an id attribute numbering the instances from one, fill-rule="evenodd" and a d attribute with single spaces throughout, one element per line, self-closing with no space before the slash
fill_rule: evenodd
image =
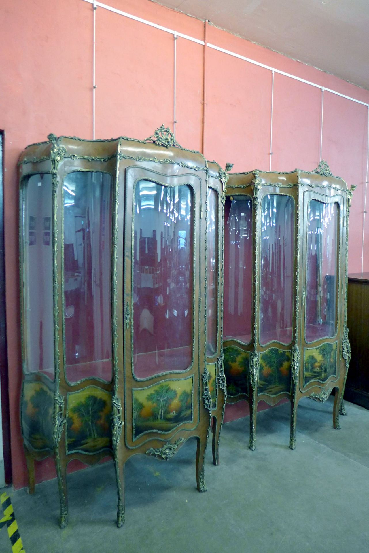
<path id="1" fill-rule="evenodd" d="M 192 422 L 193 383 L 191 376 L 133 388 L 133 440 L 146 432 L 170 432 L 183 422 Z"/>

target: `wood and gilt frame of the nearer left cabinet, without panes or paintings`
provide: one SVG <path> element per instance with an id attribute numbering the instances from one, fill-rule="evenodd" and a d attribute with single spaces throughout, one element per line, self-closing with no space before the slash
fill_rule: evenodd
<path id="1" fill-rule="evenodd" d="M 121 137 L 111 140 L 81 140 L 76 137 L 48 136 L 48 142 L 30 145 L 19 160 L 20 171 L 20 288 L 22 312 L 23 388 L 22 410 L 28 409 L 24 388 L 37 385 L 45 388 L 52 411 L 52 439 L 41 450 L 30 443 L 27 428 L 23 427 L 24 451 L 29 473 L 29 491 L 33 493 L 34 460 L 53 456 L 60 494 L 60 525 L 67 524 L 66 467 L 72 458 L 94 464 L 103 457 L 113 457 L 116 469 L 118 510 L 117 524 L 124 522 L 124 463 L 136 453 L 168 460 L 189 437 L 196 437 L 196 482 L 199 491 L 206 491 L 204 461 L 211 418 L 213 424 L 213 457 L 219 462 L 218 446 L 224 415 L 226 384 L 222 363 L 222 254 L 223 208 L 227 174 L 215 162 L 208 163 L 198 152 L 182 148 L 164 126 L 146 140 Z M 69 383 L 65 375 L 65 302 L 64 302 L 64 178 L 75 171 L 107 173 L 112 178 L 111 226 L 111 343 L 112 380 L 84 378 Z M 40 372 L 28 372 L 25 348 L 24 285 L 27 273 L 24 264 L 23 221 L 24 186 L 34 174 L 48 174 L 52 185 L 51 246 L 53 249 L 53 320 L 55 379 L 51 381 Z M 187 185 L 193 190 L 194 220 L 194 298 L 193 298 L 193 362 L 185 371 L 165 371 L 147 379 L 137 378 L 132 371 L 133 298 L 132 298 L 132 239 L 133 192 L 141 179 L 149 179 L 171 187 Z M 217 346 L 211 358 L 206 353 L 206 293 L 207 293 L 207 190 L 212 187 L 218 198 L 217 230 Z M 207 365 L 216 365 L 216 401 L 209 389 Z M 132 393 L 166 380 L 192 382 L 192 421 L 182 422 L 170 431 L 155 429 L 134 436 Z M 100 390 L 111 401 L 111 437 L 107 446 L 93 453 L 71 449 L 67 442 L 69 401 L 73 394 L 88 389 Z M 51 412 L 50 411 L 50 412 Z"/>

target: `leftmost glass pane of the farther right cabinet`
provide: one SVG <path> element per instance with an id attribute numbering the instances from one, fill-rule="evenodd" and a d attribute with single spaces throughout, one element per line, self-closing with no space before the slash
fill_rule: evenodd
<path id="1" fill-rule="evenodd" d="M 248 344 L 252 324 L 252 200 L 228 196 L 224 236 L 224 340 Z"/>

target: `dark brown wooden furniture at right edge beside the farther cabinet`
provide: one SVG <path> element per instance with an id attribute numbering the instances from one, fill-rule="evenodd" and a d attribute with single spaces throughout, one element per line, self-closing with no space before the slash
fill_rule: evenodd
<path id="1" fill-rule="evenodd" d="M 351 362 L 345 399 L 369 409 L 369 280 L 349 278 L 347 327 Z"/>

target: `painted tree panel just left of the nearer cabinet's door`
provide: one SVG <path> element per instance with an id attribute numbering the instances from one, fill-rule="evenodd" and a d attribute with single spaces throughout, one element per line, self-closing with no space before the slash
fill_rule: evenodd
<path id="1" fill-rule="evenodd" d="M 88 386 L 67 394 L 66 452 L 97 453 L 112 447 L 111 393 Z"/>

